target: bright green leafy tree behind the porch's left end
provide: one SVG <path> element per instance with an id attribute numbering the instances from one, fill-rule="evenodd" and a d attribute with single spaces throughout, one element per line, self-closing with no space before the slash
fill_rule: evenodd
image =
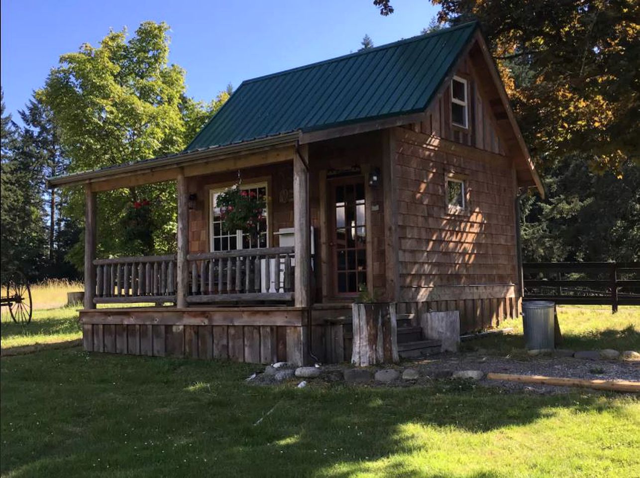
<path id="1" fill-rule="evenodd" d="M 70 158 L 68 171 L 93 170 L 182 150 L 227 96 L 212 104 L 185 94 L 184 70 L 169 64 L 169 26 L 143 22 L 127 39 L 111 31 L 98 47 L 84 44 L 61 56 L 38 100 L 50 108 L 60 141 Z M 149 202 L 145 224 L 152 241 L 128 243 L 125 234 L 132 204 Z M 175 184 L 129 187 L 98 196 L 99 253 L 166 253 L 175 248 Z M 83 216 L 84 198 L 70 194 L 67 212 Z M 70 257 L 81 265 L 82 244 Z"/>

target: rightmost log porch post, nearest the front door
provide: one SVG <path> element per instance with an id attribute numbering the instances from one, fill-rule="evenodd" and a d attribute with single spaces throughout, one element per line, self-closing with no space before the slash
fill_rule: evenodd
<path id="1" fill-rule="evenodd" d="M 296 147 L 293 154 L 293 222 L 296 254 L 294 303 L 296 307 L 308 307 L 311 304 L 311 224 L 307 145 Z"/>

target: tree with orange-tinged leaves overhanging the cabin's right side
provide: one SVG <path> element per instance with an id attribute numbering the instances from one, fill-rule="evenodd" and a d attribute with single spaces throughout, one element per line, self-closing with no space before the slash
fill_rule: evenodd
<path id="1" fill-rule="evenodd" d="M 432 1 L 440 21 L 480 20 L 534 155 L 579 154 L 618 175 L 640 164 L 640 3 Z M 518 84 L 514 66 L 531 81 Z"/>

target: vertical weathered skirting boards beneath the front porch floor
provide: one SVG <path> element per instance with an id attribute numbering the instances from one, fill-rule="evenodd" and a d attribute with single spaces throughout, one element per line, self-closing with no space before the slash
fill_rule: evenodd
<path id="1" fill-rule="evenodd" d="M 345 344 L 326 314 L 296 307 L 104 308 L 82 310 L 80 322 L 86 351 L 306 365 L 345 360 L 350 338 Z"/>

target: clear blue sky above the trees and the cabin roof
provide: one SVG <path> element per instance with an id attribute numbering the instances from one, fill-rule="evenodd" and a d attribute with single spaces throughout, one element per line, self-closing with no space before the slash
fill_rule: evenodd
<path id="1" fill-rule="evenodd" d="M 2 0 L 4 103 L 15 119 L 61 54 L 144 20 L 171 26 L 170 61 L 186 70 L 190 96 L 211 100 L 228 83 L 356 51 L 365 33 L 375 45 L 418 35 L 437 12 L 429 0 L 392 4 L 382 17 L 372 0 Z"/>

